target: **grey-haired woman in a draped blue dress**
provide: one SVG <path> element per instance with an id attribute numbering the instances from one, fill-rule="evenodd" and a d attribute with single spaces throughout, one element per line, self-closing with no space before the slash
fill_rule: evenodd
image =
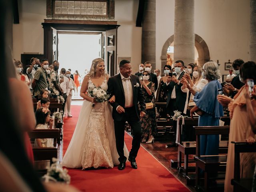
<path id="1" fill-rule="evenodd" d="M 199 115 L 198 126 L 219 126 L 219 118 L 223 116 L 223 107 L 217 100 L 217 95 L 222 91 L 218 79 L 220 71 L 218 64 L 210 61 L 203 66 L 203 76 L 208 80 L 208 84 L 201 92 L 196 92 L 194 96 L 194 106 L 190 110 L 190 116 L 193 118 L 194 112 Z M 200 154 L 217 155 L 219 149 L 219 135 L 200 136 Z"/>

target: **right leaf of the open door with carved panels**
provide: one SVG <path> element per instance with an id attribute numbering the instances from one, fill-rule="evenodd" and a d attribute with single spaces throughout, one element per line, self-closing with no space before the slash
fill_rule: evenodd
<path id="1" fill-rule="evenodd" d="M 117 28 L 106 30 L 105 34 L 105 65 L 110 76 L 118 73 L 116 64 Z"/>

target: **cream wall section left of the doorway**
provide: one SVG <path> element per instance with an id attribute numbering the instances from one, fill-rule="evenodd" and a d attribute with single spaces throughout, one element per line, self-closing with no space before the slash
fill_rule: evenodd
<path id="1" fill-rule="evenodd" d="M 13 57 L 20 60 L 23 52 L 44 52 L 46 0 L 19 0 L 20 24 L 13 24 Z"/>

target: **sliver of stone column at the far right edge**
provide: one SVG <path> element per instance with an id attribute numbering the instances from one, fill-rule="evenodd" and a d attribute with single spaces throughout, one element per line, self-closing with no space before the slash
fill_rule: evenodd
<path id="1" fill-rule="evenodd" d="M 250 0 L 250 61 L 256 62 L 256 0 Z"/>

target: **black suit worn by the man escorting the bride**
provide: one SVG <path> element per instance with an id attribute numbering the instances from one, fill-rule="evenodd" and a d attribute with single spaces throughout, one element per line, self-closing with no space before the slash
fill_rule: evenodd
<path id="1" fill-rule="evenodd" d="M 115 136 L 116 136 L 116 149 L 118 152 L 119 161 L 126 162 L 126 157 L 124 156 L 124 126 L 127 121 L 132 128 L 132 149 L 129 154 L 130 160 L 135 160 L 138 150 L 140 148 L 141 139 L 141 125 L 140 125 L 140 111 L 146 112 L 146 104 L 144 94 L 140 85 L 139 77 L 135 75 L 130 76 L 128 80 L 132 84 L 132 95 L 133 95 L 133 106 L 125 108 L 125 95 L 124 86 L 122 84 L 121 75 L 117 74 L 110 77 L 108 80 L 108 94 L 110 97 L 116 96 L 116 101 L 111 103 L 113 107 L 112 117 L 114 119 L 115 126 Z M 140 111 L 138 108 L 138 103 L 140 104 Z M 122 106 L 125 110 L 124 113 L 119 114 L 116 111 L 118 106 Z"/>

